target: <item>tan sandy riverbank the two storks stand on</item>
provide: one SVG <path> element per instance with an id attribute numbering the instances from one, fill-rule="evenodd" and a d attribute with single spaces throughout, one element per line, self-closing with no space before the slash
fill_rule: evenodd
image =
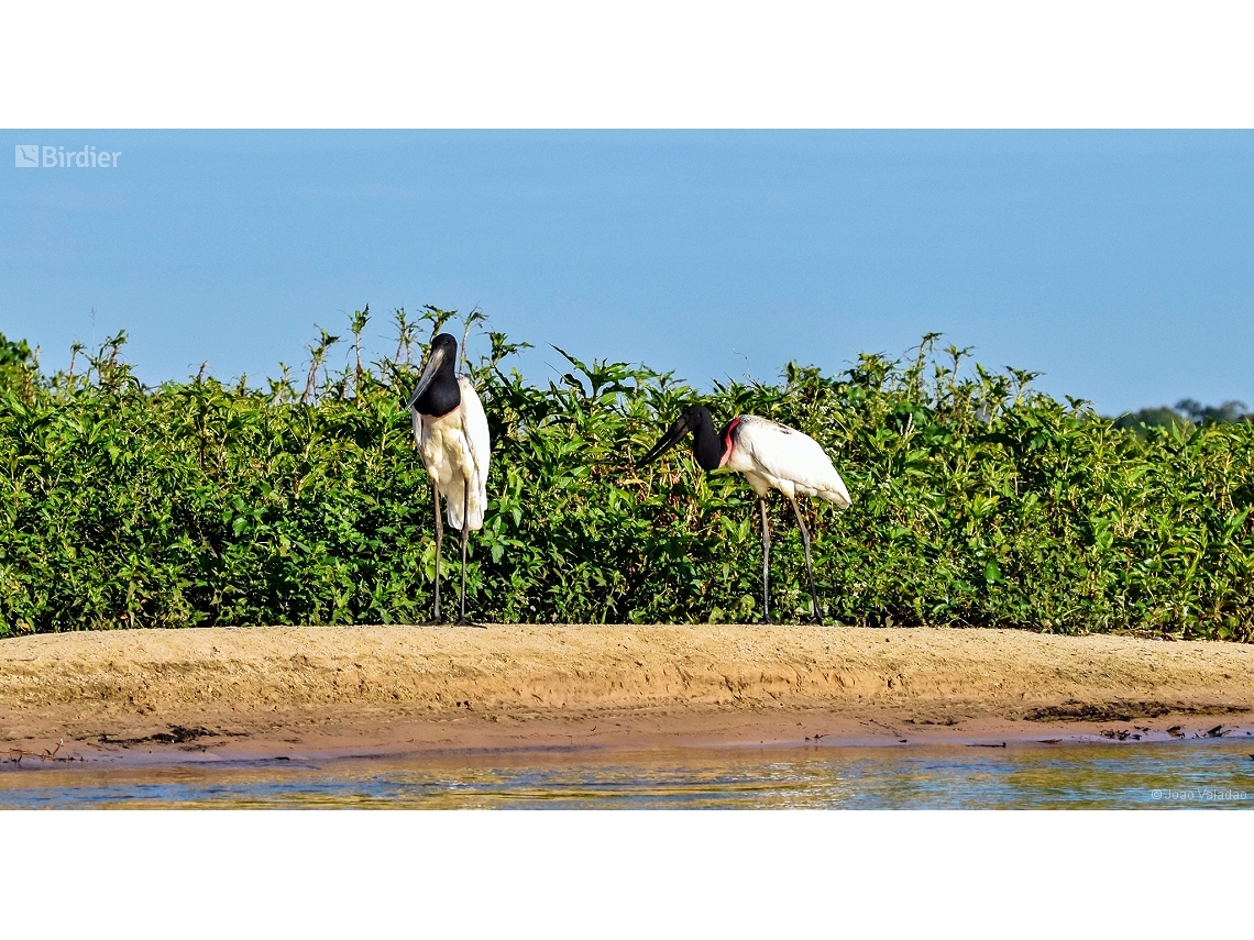
<path id="1" fill-rule="evenodd" d="M 997 744 L 1254 729 L 1254 647 L 991 629 L 262 627 L 0 640 L 0 758 Z M 58 749 L 59 748 L 59 749 Z"/>

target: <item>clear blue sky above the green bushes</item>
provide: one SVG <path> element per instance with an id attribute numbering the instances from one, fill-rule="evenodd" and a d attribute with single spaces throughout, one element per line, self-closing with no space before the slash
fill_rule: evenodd
<path id="1" fill-rule="evenodd" d="M 0 137 L 0 332 L 48 367 L 125 328 L 147 382 L 260 381 L 367 302 L 375 352 L 394 307 L 478 305 L 539 381 L 547 343 L 706 386 L 939 331 L 1109 414 L 1254 405 L 1250 132 Z"/>

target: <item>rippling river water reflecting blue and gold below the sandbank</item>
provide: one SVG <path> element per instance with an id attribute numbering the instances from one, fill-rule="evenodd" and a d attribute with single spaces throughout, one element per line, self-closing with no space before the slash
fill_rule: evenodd
<path id="1" fill-rule="evenodd" d="M 1254 742 L 4 765 L 0 807 L 1254 808 Z"/>

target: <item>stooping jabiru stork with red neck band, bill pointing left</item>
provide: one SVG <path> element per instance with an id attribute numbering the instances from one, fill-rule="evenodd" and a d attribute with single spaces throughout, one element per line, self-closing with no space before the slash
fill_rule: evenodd
<path id="1" fill-rule="evenodd" d="M 801 519 L 796 498 L 818 496 L 835 503 L 841 509 L 849 508 L 849 490 L 831 465 L 830 457 L 813 437 L 754 415 L 734 417 L 716 434 L 709 409 L 691 405 L 636 466 L 645 466 L 657 460 L 688 432 L 692 434 L 692 455 L 702 470 L 741 473 L 757 494 L 757 503 L 762 510 L 762 622 L 770 623 L 767 579 L 771 530 L 766 521 L 766 495 L 771 490 L 779 490 L 788 496 L 796 514 L 796 524 L 801 526 L 805 570 L 810 575 L 810 609 L 818 619 L 819 595 L 814 589 L 814 567 L 810 563 L 810 531 Z"/>

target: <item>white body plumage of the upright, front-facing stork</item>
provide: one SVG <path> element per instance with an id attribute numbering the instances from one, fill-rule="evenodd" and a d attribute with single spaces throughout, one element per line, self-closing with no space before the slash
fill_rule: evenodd
<path id="1" fill-rule="evenodd" d="M 448 415 L 414 415 L 414 439 L 423 466 L 439 496 L 444 496 L 449 525 L 463 528 L 463 506 L 469 515 L 465 529 L 483 528 L 488 508 L 488 416 L 474 386 L 460 376 L 461 404 Z M 466 499 L 469 491 L 469 499 Z"/>

